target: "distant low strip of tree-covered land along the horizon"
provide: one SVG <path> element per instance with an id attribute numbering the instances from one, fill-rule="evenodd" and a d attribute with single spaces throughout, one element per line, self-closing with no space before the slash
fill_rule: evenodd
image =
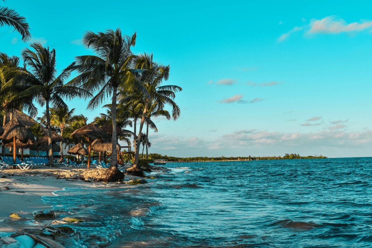
<path id="1" fill-rule="evenodd" d="M 172 157 L 167 155 L 161 155 L 157 153 L 151 153 L 148 156 L 147 162 L 153 162 L 154 160 L 166 160 L 166 161 L 240 161 L 240 160 L 281 160 L 281 159 L 310 159 L 310 158 L 327 158 L 322 155 L 320 156 L 300 156 L 299 154 L 286 153 L 283 157 L 273 156 L 273 157 L 260 157 L 260 156 L 251 156 L 248 157 L 189 157 L 189 158 L 180 158 L 180 157 Z"/>

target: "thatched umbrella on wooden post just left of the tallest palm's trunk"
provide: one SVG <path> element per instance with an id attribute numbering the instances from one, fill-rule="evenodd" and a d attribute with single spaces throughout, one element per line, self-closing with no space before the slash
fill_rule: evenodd
<path id="1" fill-rule="evenodd" d="M 99 139 L 102 142 L 106 142 L 109 140 L 109 135 L 101 128 L 99 128 L 97 124 L 94 123 L 90 123 L 86 126 L 83 126 L 82 128 L 76 129 L 73 133 L 71 133 L 70 137 L 74 139 L 81 139 L 82 137 L 84 137 L 89 142 L 87 170 L 89 170 L 90 165 L 90 152 L 92 151 L 92 142 L 96 139 Z"/>

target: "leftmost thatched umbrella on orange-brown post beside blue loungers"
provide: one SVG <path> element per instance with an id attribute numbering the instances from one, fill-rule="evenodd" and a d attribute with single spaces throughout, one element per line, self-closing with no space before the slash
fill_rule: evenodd
<path id="1" fill-rule="evenodd" d="M 4 132 L 1 135 L 1 139 L 4 140 L 13 140 L 13 163 L 16 163 L 16 142 L 17 139 L 22 143 L 27 141 L 34 141 L 35 137 L 33 134 L 26 128 L 25 125 L 19 123 L 16 118 L 13 118 L 8 123 L 3 126 Z"/>

